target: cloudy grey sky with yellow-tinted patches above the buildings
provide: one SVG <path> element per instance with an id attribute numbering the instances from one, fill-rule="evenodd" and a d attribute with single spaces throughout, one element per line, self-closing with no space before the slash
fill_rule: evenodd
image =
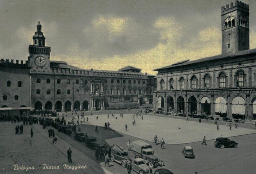
<path id="1" fill-rule="evenodd" d="M 234 1 L 233 1 L 234 2 Z M 256 48 L 256 1 L 250 49 Z M 50 60 L 84 69 L 153 69 L 221 54 L 230 0 L 0 0 L 0 58 L 27 60 L 40 21 Z"/>

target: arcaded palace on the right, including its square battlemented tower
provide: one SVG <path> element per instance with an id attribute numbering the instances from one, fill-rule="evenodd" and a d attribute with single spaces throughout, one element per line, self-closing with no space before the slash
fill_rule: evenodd
<path id="1" fill-rule="evenodd" d="M 256 117 L 256 49 L 249 49 L 249 5 L 221 7 L 222 54 L 157 68 L 154 108 L 166 112 Z"/>

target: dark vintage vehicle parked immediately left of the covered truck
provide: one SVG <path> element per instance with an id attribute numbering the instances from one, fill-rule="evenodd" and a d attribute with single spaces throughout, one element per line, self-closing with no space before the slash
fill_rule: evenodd
<path id="1" fill-rule="evenodd" d="M 109 149 L 111 161 L 121 164 L 123 167 L 126 167 L 128 162 L 131 161 L 129 154 L 118 144 L 114 144 Z"/>

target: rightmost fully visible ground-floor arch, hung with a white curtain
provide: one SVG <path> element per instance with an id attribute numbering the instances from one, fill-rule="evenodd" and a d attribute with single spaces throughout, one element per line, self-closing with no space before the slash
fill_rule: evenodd
<path id="1" fill-rule="evenodd" d="M 243 97 L 234 97 L 232 100 L 232 117 L 235 119 L 244 119 L 245 117 L 245 101 Z"/>

